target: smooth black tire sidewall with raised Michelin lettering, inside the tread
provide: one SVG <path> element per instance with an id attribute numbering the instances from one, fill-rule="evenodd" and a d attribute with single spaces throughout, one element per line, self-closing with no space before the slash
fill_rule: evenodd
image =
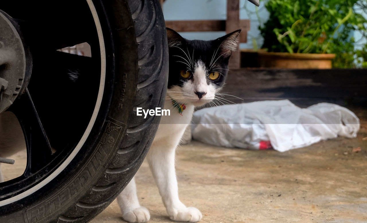
<path id="1" fill-rule="evenodd" d="M 100 0 L 92 1 L 101 21 L 106 45 L 106 83 L 101 108 L 107 107 L 109 109 L 99 111 L 86 143 L 73 161 L 51 182 L 29 195 L 40 197 L 40 201 L 33 202 L 17 212 L 1 216 L 0 222 L 50 222 L 66 212 L 99 180 L 110 160 L 115 156 L 124 134 L 126 134 L 137 85 L 138 53 L 135 32 L 132 28 L 124 30 L 124 34 L 118 34 L 117 36 L 123 38 L 123 42 L 128 48 L 124 48 L 124 53 L 115 52 L 113 37 L 116 36 L 116 33 L 111 33 L 111 25 L 115 24 L 110 24 L 109 18 L 106 17 L 111 12 L 104 11 L 109 10 L 109 6 L 105 7 Z M 119 6 L 121 21 L 126 23 L 127 27 L 132 26 L 133 22 L 127 4 Z M 121 49 L 123 46 L 117 47 Z M 128 56 L 123 55 L 127 51 L 129 52 Z M 116 59 L 123 59 L 124 63 L 116 64 Z M 121 100 L 122 93 L 125 100 Z M 113 97 L 111 98 L 110 95 Z M 76 166 L 79 167 L 77 170 L 75 170 Z M 129 179 L 134 174 L 135 172 L 131 172 Z M 62 186 L 54 188 L 53 185 L 59 185 L 59 183 L 55 183 L 59 180 L 65 180 L 65 182 Z M 0 212 L 14 211 L 17 207 L 26 204 L 29 196 L 0 207 Z"/>

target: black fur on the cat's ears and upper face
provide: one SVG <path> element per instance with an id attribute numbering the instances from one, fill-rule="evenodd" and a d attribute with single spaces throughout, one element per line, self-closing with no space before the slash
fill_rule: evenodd
<path id="1" fill-rule="evenodd" d="M 240 30 L 229 33 L 215 40 L 186 40 L 177 32 L 167 28 L 168 51 L 169 51 L 169 76 L 168 88 L 178 85 L 182 87 L 183 83 L 190 81 L 195 76 L 183 78 L 180 75 L 181 70 L 189 70 L 192 74 L 195 72 L 197 61 L 201 61 L 208 70 L 207 76 L 211 72 L 219 72 L 219 78 L 210 80 L 207 83 L 214 83 L 220 87 L 228 73 L 228 61 L 232 51 L 236 46 L 236 37 Z"/>

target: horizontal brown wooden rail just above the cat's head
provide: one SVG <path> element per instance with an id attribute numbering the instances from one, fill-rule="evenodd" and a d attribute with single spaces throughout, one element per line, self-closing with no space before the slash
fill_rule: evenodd
<path id="1" fill-rule="evenodd" d="M 210 32 L 224 31 L 225 20 L 180 20 L 166 21 L 166 27 L 176 32 Z"/>

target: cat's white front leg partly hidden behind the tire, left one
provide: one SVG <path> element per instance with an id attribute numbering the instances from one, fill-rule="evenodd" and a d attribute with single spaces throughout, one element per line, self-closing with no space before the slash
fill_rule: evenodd
<path id="1" fill-rule="evenodd" d="M 148 222 L 149 211 L 140 206 L 137 196 L 135 177 L 131 179 L 125 189 L 117 196 L 117 203 L 120 206 L 122 217 L 127 222 Z"/>

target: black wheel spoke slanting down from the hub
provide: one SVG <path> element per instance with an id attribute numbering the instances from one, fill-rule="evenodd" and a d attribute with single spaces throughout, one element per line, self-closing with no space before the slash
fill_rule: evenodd
<path id="1" fill-rule="evenodd" d="M 25 175 L 30 175 L 43 168 L 52 156 L 50 142 L 34 107 L 28 89 L 8 109 L 17 116 L 23 129 L 27 147 L 27 167 Z"/>

